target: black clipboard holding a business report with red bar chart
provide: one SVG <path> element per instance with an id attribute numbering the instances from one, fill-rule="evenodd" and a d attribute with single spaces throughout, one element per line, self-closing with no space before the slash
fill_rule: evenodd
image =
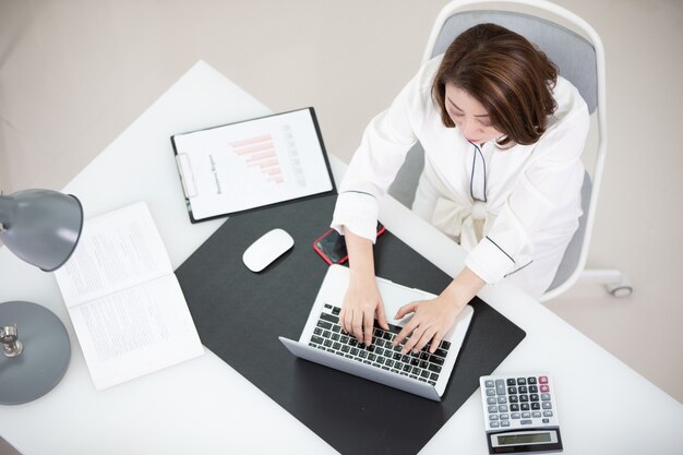
<path id="1" fill-rule="evenodd" d="M 335 191 L 313 108 L 171 142 L 193 223 Z"/>

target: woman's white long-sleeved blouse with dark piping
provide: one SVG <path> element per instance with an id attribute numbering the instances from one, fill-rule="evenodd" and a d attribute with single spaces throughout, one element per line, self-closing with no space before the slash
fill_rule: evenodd
<path id="1" fill-rule="evenodd" d="M 469 250 L 465 264 L 494 284 L 552 252 L 552 270 L 537 276 L 549 285 L 582 214 L 586 103 L 558 77 L 558 109 L 536 144 L 501 149 L 490 141 L 479 147 L 441 121 L 431 95 L 441 59 L 427 62 L 371 120 L 339 187 L 332 227 L 374 242 L 378 201 L 420 141 L 428 173 L 422 179 L 438 180 L 440 193 L 432 221 Z M 476 232 L 476 219 L 483 230 L 479 224 Z"/>

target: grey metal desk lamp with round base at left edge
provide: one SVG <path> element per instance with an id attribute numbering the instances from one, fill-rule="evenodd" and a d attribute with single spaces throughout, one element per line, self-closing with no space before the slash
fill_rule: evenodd
<path id="1" fill-rule="evenodd" d="M 83 208 L 75 196 L 50 190 L 0 194 L 0 241 L 44 272 L 69 260 L 82 227 Z M 69 366 L 67 328 L 39 304 L 0 303 L 0 342 L 4 351 L 0 354 L 1 405 L 20 405 L 45 395 Z"/>

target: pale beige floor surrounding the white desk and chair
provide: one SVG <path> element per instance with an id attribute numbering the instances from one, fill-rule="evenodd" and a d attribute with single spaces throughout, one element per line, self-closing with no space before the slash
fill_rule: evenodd
<path id="1" fill-rule="evenodd" d="M 274 110 L 314 106 L 328 152 L 348 160 L 445 3 L 0 0 L 0 189 L 60 189 L 197 59 Z M 635 292 L 583 286 L 548 307 L 683 402 L 683 3 L 558 3 L 594 25 L 608 58 L 588 262 L 626 271 Z"/>

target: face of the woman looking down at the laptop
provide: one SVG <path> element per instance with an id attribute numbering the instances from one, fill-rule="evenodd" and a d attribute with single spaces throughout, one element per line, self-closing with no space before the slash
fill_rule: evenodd
<path id="1" fill-rule="evenodd" d="M 446 84 L 446 110 L 469 142 L 482 144 L 503 135 L 493 128 L 483 106 L 467 92 L 451 83 Z"/>

